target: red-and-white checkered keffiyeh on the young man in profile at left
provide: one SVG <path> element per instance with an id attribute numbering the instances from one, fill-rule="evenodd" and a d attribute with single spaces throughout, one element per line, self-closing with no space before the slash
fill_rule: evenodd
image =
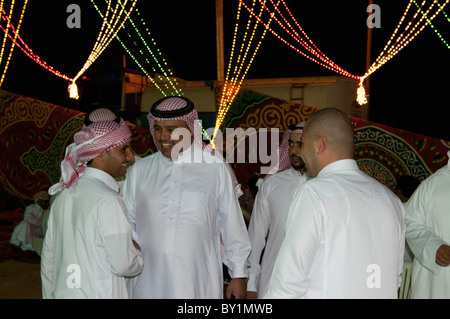
<path id="1" fill-rule="evenodd" d="M 100 108 L 89 115 L 92 122 L 77 132 L 74 142 L 66 148 L 61 162 L 62 180 L 50 187 L 54 195 L 63 188 L 73 189 L 86 169 L 86 164 L 103 152 L 131 141 L 131 131 L 123 119 L 115 122 L 116 115 L 109 109 Z"/>

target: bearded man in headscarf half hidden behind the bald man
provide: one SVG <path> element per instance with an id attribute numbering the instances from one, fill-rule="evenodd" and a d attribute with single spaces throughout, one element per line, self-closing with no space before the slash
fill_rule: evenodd
<path id="1" fill-rule="evenodd" d="M 283 242 L 292 198 L 297 187 L 307 179 L 299 147 L 304 125 L 302 122 L 286 130 L 280 145 L 278 171 L 264 178 L 256 195 L 248 227 L 252 252 L 248 258 L 247 299 L 266 293 Z"/>

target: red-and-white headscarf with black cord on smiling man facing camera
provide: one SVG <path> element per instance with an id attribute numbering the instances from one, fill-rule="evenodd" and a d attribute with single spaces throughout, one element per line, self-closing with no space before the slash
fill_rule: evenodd
<path id="1" fill-rule="evenodd" d="M 155 121 L 181 120 L 186 122 L 186 125 L 189 127 L 191 132 L 196 133 L 194 134 L 194 145 L 201 149 L 208 150 L 211 152 L 211 154 L 223 159 L 222 154 L 214 150 L 211 145 L 206 145 L 205 143 L 203 143 L 202 129 L 198 122 L 198 113 L 195 110 L 194 104 L 191 100 L 180 96 L 170 96 L 162 98 L 153 104 L 150 112 L 147 115 L 147 119 L 153 140 L 155 140 Z M 155 143 L 155 145 L 158 148 L 158 144 Z M 224 162 L 226 163 L 225 160 Z M 226 163 L 226 165 L 230 171 L 231 177 L 233 178 L 233 184 L 236 190 L 236 194 L 239 197 L 243 194 L 241 185 L 239 184 L 236 175 L 233 172 L 233 169 L 228 163 Z"/>

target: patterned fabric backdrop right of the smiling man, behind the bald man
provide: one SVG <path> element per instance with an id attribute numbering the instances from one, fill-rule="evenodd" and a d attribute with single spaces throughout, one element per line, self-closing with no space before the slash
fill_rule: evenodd
<path id="1" fill-rule="evenodd" d="M 281 138 L 289 125 L 307 120 L 317 110 L 242 90 L 228 111 L 224 127 L 278 128 Z M 395 189 L 402 175 L 422 181 L 448 161 L 448 141 L 357 118 L 351 118 L 351 122 L 355 129 L 355 159 L 360 169 L 391 189 Z M 243 149 L 238 143 L 235 148 Z M 243 183 L 258 177 L 260 166 L 261 163 L 233 165 Z"/>

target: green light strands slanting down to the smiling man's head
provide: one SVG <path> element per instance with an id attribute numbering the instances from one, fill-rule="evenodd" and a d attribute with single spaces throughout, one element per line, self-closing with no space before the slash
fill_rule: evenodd
<path id="1" fill-rule="evenodd" d="M 106 0 L 107 1 L 107 0 Z M 100 14 L 101 17 L 103 17 L 102 12 L 99 10 L 98 6 L 95 4 L 95 2 L 93 0 L 91 0 L 91 3 L 94 5 L 95 9 L 97 10 L 97 12 Z M 140 16 L 140 12 L 138 11 L 138 8 L 136 7 L 135 12 L 138 16 Z M 142 18 L 139 18 L 142 25 L 145 26 L 145 21 L 143 21 Z M 141 35 L 141 32 L 139 31 L 139 29 L 137 28 L 136 24 L 134 23 L 133 19 L 131 17 L 129 17 L 128 21 L 131 23 L 133 29 L 135 30 L 135 32 L 138 34 L 139 39 L 141 40 L 141 42 L 144 44 L 144 47 L 147 49 L 147 51 L 151 54 L 153 61 L 156 62 L 157 66 L 159 67 L 159 70 L 162 71 L 163 75 L 166 77 L 166 79 L 168 79 L 169 84 L 172 86 L 172 90 L 173 92 L 171 93 L 172 95 L 174 94 L 178 94 L 178 95 L 182 95 L 182 90 L 177 88 L 177 81 L 174 78 L 173 80 L 171 79 L 171 77 L 173 77 L 172 74 L 172 70 L 169 68 L 169 75 L 167 75 L 165 68 L 163 67 L 162 64 L 164 64 L 164 66 L 166 66 L 168 68 L 167 62 L 166 60 L 162 57 L 161 55 L 161 51 L 159 49 L 157 49 L 157 52 L 159 54 L 159 56 L 162 59 L 162 63 L 160 63 L 156 57 L 156 55 L 153 53 L 153 51 L 151 50 L 150 46 L 147 44 L 147 42 L 145 41 L 145 39 L 143 38 L 143 36 Z M 128 38 L 131 39 L 131 34 L 126 30 L 125 25 L 123 26 L 123 29 L 127 32 Z M 149 38 L 151 38 L 153 45 L 156 47 L 156 42 L 153 39 L 153 37 L 151 37 L 150 35 L 150 31 L 148 29 L 148 27 L 145 27 L 145 30 L 147 31 L 147 35 L 149 36 Z M 160 86 L 158 85 L 158 83 L 156 83 L 153 78 L 148 74 L 147 70 L 141 65 L 141 63 L 138 61 L 138 59 L 133 55 L 133 53 L 131 53 L 131 50 L 128 49 L 128 47 L 125 45 L 125 43 L 120 39 L 120 37 L 118 35 L 116 35 L 116 39 L 119 41 L 119 43 L 122 45 L 122 47 L 125 49 L 125 51 L 127 52 L 127 54 L 136 62 L 136 64 L 138 65 L 138 67 L 142 70 L 142 72 L 150 79 L 150 81 L 155 85 L 155 87 L 164 95 L 166 96 L 167 94 L 165 93 L 165 91 L 163 89 L 160 88 Z M 138 44 L 135 41 L 132 41 L 133 44 L 137 47 Z M 144 56 L 144 52 L 142 49 L 138 48 L 138 52 Z M 147 57 L 144 56 L 145 61 L 150 64 L 150 61 Z M 155 69 L 155 67 L 153 65 L 151 65 L 152 70 L 155 72 L 155 75 L 157 75 L 159 77 L 159 79 L 162 79 L 162 77 L 159 75 L 158 71 Z M 167 83 L 164 83 L 166 89 L 170 90 L 170 88 L 168 87 Z"/>

